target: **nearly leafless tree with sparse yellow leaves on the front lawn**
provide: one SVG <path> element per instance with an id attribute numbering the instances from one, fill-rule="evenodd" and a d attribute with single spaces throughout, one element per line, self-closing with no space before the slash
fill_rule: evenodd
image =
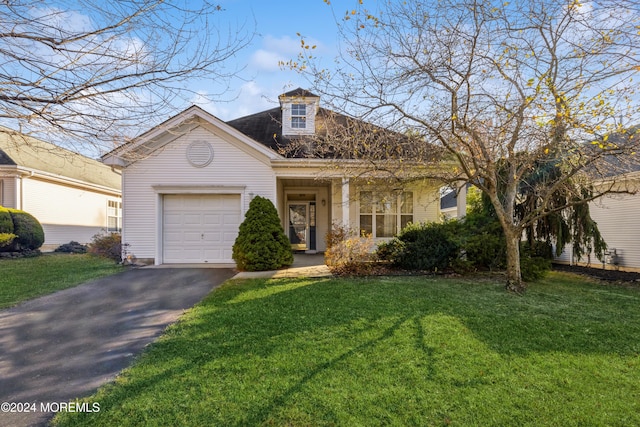
<path id="1" fill-rule="evenodd" d="M 304 41 L 288 65 L 311 76 L 325 99 L 331 95 L 334 109 L 443 148 L 455 166 L 425 173 L 473 183 L 489 197 L 507 239 L 507 289 L 523 291 L 519 241 L 528 226 L 628 191 L 614 177 L 628 171 L 625 161 L 635 157 L 640 138 L 608 136 L 624 135 L 638 120 L 638 2 L 406 0 L 378 2 L 375 10 L 366 0 L 359 4 L 339 22 L 335 70 L 318 69 Z M 332 144 L 336 151 L 339 142 Z M 365 157 L 382 161 L 384 152 Z M 551 162 L 562 173 L 527 183 Z M 539 202 L 516 215 L 525 184 Z M 550 203 L 560 189 L 572 197 Z"/>

